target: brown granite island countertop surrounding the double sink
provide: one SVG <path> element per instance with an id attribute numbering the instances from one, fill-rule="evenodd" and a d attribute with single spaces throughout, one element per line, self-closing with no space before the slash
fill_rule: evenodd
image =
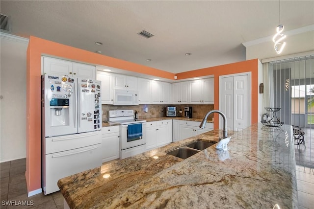
<path id="1" fill-rule="evenodd" d="M 166 154 L 191 141 L 217 141 L 221 131 L 213 130 L 60 179 L 58 186 L 76 209 L 297 209 L 291 126 L 258 123 L 228 136 L 228 151 L 213 145 L 185 160 Z"/>

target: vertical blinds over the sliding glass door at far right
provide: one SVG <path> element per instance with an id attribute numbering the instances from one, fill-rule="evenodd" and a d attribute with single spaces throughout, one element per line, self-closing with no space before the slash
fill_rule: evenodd
<path id="1" fill-rule="evenodd" d="M 266 65 L 264 80 L 269 82 L 266 105 L 281 108 L 278 120 L 293 126 L 296 163 L 314 168 L 314 55 Z M 297 140 L 301 137 L 304 144 Z"/>

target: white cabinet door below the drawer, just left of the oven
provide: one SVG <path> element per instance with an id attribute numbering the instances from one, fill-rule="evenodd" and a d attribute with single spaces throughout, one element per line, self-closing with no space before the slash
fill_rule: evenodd
<path id="1" fill-rule="evenodd" d="M 120 158 L 120 133 L 102 135 L 102 161 L 103 163 Z"/>

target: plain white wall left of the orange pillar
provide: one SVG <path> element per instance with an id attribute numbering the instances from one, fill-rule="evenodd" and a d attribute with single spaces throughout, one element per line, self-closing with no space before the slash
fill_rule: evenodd
<path id="1" fill-rule="evenodd" d="M 0 34 L 0 162 L 26 158 L 27 45 L 27 39 Z"/>

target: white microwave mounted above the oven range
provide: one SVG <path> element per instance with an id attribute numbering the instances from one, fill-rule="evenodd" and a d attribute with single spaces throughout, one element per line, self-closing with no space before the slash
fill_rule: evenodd
<path id="1" fill-rule="evenodd" d="M 113 105 L 138 105 L 138 92 L 120 89 L 114 90 Z"/>

